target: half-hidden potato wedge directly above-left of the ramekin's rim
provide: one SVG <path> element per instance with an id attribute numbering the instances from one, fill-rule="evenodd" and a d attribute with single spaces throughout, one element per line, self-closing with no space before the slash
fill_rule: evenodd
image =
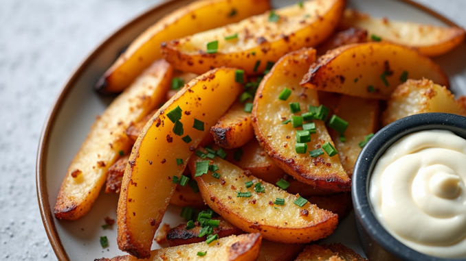
<path id="1" fill-rule="evenodd" d="M 357 156 L 362 150 L 359 142 L 379 128 L 379 101 L 342 95 L 335 114 L 348 122 L 348 128 L 344 132 L 346 141 L 342 142 L 340 134 L 335 130 L 330 129 L 329 132 L 344 170 L 352 177 Z"/>

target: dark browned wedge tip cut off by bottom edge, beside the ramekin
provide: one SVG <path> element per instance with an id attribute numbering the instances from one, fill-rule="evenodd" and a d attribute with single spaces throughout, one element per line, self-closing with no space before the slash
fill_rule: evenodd
<path id="1" fill-rule="evenodd" d="M 368 261 L 355 251 L 340 243 L 331 245 L 309 245 L 300 253 L 296 261 Z"/>

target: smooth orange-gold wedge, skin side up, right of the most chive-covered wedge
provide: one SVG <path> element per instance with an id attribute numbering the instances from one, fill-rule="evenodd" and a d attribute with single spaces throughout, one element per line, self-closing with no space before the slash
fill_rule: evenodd
<path id="1" fill-rule="evenodd" d="M 437 84 L 448 86 L 447 75 L 438 64 L 418 51 L 390 42 L 334 49 L 309 68 L 301 85 L 362 98 L 388 99 L 406 77 L 430 77 Z"/>

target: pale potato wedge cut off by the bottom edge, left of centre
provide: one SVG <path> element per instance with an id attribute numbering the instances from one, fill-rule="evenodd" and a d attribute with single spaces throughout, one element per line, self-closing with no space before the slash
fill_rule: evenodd
<path id="1" fill-rule="evenodd" d="M 258 233 L 243 234 L 220 238 L 207 245 L 205 242 L 177 247 L 166 247 L 151 251 L 148 260 L 165 261 L 254 261 L 260 251 L 260 240 L 262 236 Z M 207 251 L 206 256 L 197 256 L 198 252 Z M 134 256 L 117 256 L 115 258 L 101 258 L 96 261 L 137 261 Z"/>

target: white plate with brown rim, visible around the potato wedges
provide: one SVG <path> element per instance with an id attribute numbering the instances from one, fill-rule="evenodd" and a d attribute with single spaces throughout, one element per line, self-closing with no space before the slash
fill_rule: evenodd
<path id="1" fill-rule="evenodd" d="M 89 214 L 78 221 L 58 221 L 54 218 L 56 195 L 63 175 L 85 140 L 95 116 L 101 114 L 111 102 L 111 99 L 100 97 L 93 91 L 92 86 L 98 77 L 109 68 L 118 52 L 144 29 L 167 12 L 190 1 L 192 0 L 168 1 L 158 5 L 127 23 L 102 42 L 69 77 L 49 112 L 38 148 L 36 183 L 43 224 L 58 260 L 94 260 L 126 254 L 118 249 L 116 225 L 113 225 L 113 229 L 106 230 L 101 227 L 104 217 L 116 219 L 118 195 L 106 194 L 102 190 Z M 296 3 L 295 0 L 271 2 L 274 8 Z M 350 0 L 348 5 L 373 16 L 432 25 L 455 25 L 432 10 L 407 0 Z M 451 53 L 434 60 L 450 77 L 452 91 L 457 95 L 466 95 L 466 60 L 458 59 L 460 57 L 466 57 L 465 42 Z M 162 223 L 168 223 L 172 227 L 183 223 L 184 220 L 179 217 L 180 212 L 181 208 L 168 206 Z M 109 238 L 109 247 L 102 249 L 100 236 Z M 338 242 L 364 256 L 357 238 L 353 212 L 340 223 L 331 236 L 320 243 Z M 153 243 L 153 249 L 160 247 Z"/>

